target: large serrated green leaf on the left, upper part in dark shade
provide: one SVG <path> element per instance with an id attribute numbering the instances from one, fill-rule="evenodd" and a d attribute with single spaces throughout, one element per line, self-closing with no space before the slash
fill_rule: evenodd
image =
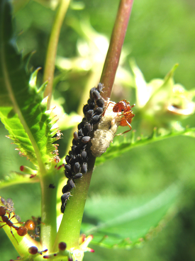
<path id="1" fill-rule="evenodd" d="M 45 169 L 45 164 L 53 159 L 56 148 L 51 130 L 50 112 L 47 112 L 47 99 L 43 99 L 46 86 L 36 86 L 37 69 L 29 77 L 21 55 L 18 55 L 10 41 L 12 25 L 10 6 L 1 0 L 0 15 L 0 117 L 21 151 L 36 166 Z"/>

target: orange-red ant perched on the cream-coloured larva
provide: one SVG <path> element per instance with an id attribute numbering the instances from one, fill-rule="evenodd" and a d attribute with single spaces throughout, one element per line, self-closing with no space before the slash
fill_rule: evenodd
<path id="1" fill-rule="evenodd" d="M 114 104 L 113 112 L 123 112 L 122 119 L 120 120 L 120 126 L 129 126 L 129 128 L 131 130 L 132 128 L 131 128 L 130 123 L 132 121 L 132 118 L 135 116 L 135 114 L 132 114 L 131 108 L 134 107 L 135 104 L 130 106 L 130 103 L 127 102 L 126 100 L 122 100 L 120 102 L 117 102 L 116 104 L 113 102 L 109 102 L 109 104 L 110 103 Z M 108 108 L 109 104 L 107 105 L 106 109 Z M 105 111 L 106 111 L 106 109 L 105 109 Z M 104 113 L 105 113 L 105 111 L 104 111 Z M 104 116 L 104 113 L 103 113 L 102 117 Z M 126 130 L 123 133 L 126 133 L 130 130 Z"/>

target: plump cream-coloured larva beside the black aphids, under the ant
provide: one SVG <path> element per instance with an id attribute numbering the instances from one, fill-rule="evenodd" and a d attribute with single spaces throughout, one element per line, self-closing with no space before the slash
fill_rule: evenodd
<path id="1" fill-rule="evenodd" d="M 97 126 L 97 130 L 94 132 L 93 139 L 91 140 L 91 152 L 95 157 L 100 157 L 106 152 L 120 125 L 121 117 L 120 114 L 113 112 L 114 104 L 115 102 L 113 102 L 113 104 L 110 103 L 107 107 L 102 120 Z"/>

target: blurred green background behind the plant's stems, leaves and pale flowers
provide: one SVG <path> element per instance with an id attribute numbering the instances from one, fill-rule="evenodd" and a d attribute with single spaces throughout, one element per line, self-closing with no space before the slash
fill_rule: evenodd
<path id="1" fill-rule="evenodd" d="M 44 59 L 49 32 L 55 11 L 35 1 L 21 3 L 15 1 L 15 29 L 17 46 L 23 55 L 36 50 L 30 64 L 33 68 L 44 68 Z M 58 55 L 66 58 L 78 56 L 78 43 L 83 41 L 78 21 L 90 22 L 91 26 L 109 39 L 118 8 L 118 0 L 84 0 L 72 3 L 68 10 L 59 40 Z M 76 8 L 77 7 L 77 8 Z M 83 8 L 83 9 L 82 9 Z M 19 9 L 19 10 L 17 10 Z M 81 9 L 81 10 L 75 10 Z M 70 26 L 70 24 L 72 26 Z M 91 36 L 93 37 L 93 36 Z M 89 35 L 90 38 L 90 35 Z M 129 70 L 129 58 L 134 58 L 143 72 L 146 81 L 164 78 L 175 63 L 175 82 L 186 89 L 195 86 L 195 2 L 193 0 L 134 0 L 130 23 L 124 42 L 125 59 L 123 67 Z M 89 42 L 88 42 L 89 43 Z M 88 55 L 89 57 L 90 55 Z M 93 56 L 90 56 L 93 59 Z M 60 69 L 56 69 L 59 74 Z M 101 73 L 101 71 L 100 71 Z M 64 98 L 65 112 L 77 111 L 80 95 L 91 71 L 71 72 L 67 70 L 65 80 L 57 84 L 54 97 Z M 42 71 L 38 75 L 42 80 Z M 100 74 L 96 75 L 97 85 Z M 93 86 L 91 86 L 93 87 Z M 130 86 L 115 86 L 113 99 L 117 102 L 127 99 L 134 103 L 134 92 Z M 136 107 L 134 110 L 136 114 Z M 136 121 L 141 119 L 135 117 Z M 194 116 L 185 119 L 183 126 L 193 127 Z M 132 129 L 134 129 L 132 122 Z M 144 130 L 136 129 L 139 133 Z M 5 138 L 8 132 L 0 126 L 0 178 L 9 179 L 11 171 L 19 171 L 21 165 L 31 166 L 20 157 L 15 146 Z M 59 140 L 59 153 L 66 151 L 71 130 L 63 131 Z M 127 133 L 127 135 L 130 135 Z M 125 153 L 118 160 L 108 161 L 95 168 L 89 196 L 116 195 L 145 197 L 158 193 L 174 181 L 185 184 L 184 194 L 178 203 L 178 214 L 169 221 L 164 230 L 141 248 L 131 250 L 104 249 L 91 246 L 95 253 L 86 253 L 84 260 L 195 260 L 195 140 L 190 137 L 176 137 Z M 11 197 L 15 202 L 16 213 L 26 220 L 31 215 L 40 215 L 40 187 L 38 184 L 18 185 L 1 189 L 0 195 Z M 34 210 L 31 213 L 31 209 Z M 17 253 L 0 229 L 0 261 L 16 259 Z M 13 252 L 13 253 L 12 253 Z"/>

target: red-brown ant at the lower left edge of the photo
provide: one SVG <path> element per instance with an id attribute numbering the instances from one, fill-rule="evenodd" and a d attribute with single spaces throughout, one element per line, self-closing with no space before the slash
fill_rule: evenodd
<path id="1" fill-rule="evenodd" d="M 22 226 L 16 227 L 16 226 L 14 225 L 14 223 L 11 222 L 11 219 L 12 219 L 13 217 L 15 217 L 15 215 L 13 215 L 13 217 L 10 218 L 10 213 L 8 213 L 8 217 L 6 216 L 6 213 L 8 213 L 8 212 L 6 211 L 6 208 L 4 208 L 3 206 L 0 206 L 0 216 L 1 216 L 1 218 L 2 218 L 2 221 L 0 221 L 0 222 L 6 223 L 6 224 L 2 225 L 1 227 L 5 226 L 5 225 L 8 225 L 8 226 L 10 227 L 10 231 L 11 231 L 11 233 L 12 233 L 12 235 L 13 235 L 14 238 L 15 238 L 15 236 L 14 236 L 14 234 L 13 234 L 13 232 L 12 232 L 12 227 L 17 231 L 17 234 L 18 234 L 19 236 L 25 236 L 25 235 L 27 234 L 27 232 L 28 232 L 28 229 L 27 229 L 26 227 L 22 227 Z M 15 224 L 18 224 L 18 223 L 21 223 L 21 222 L 17 222 L 17 223 L 15 223 Z M 1 228 L 1 227 L 0 227 L 0 228 Z M 15 240 L 17 241 L 16 238 L 15 238 Z M 17 241 L 17 243 L 18 243 L 18 241 Z M 18 245 L 19 245 L 19 244 L 18 244 Z"/>

